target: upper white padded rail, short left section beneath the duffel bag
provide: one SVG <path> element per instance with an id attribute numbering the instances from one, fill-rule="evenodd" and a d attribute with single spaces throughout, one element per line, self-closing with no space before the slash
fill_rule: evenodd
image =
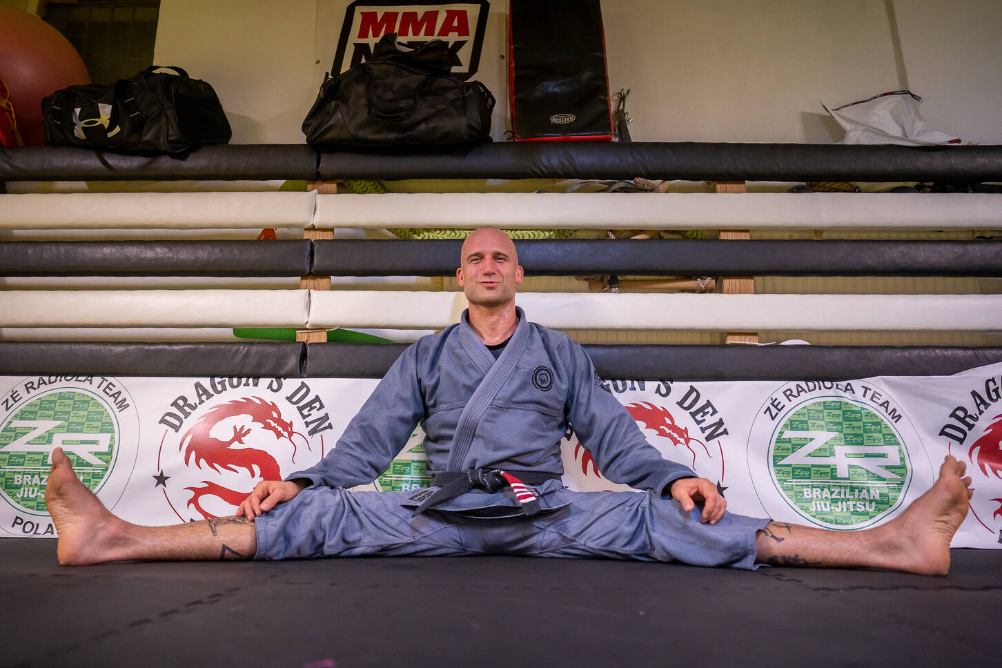
<path id="1" fill-rule="evenodd" d="M 309 227 L 310 192 L 72 192 L 0 195 L 0 229 Z"/>

